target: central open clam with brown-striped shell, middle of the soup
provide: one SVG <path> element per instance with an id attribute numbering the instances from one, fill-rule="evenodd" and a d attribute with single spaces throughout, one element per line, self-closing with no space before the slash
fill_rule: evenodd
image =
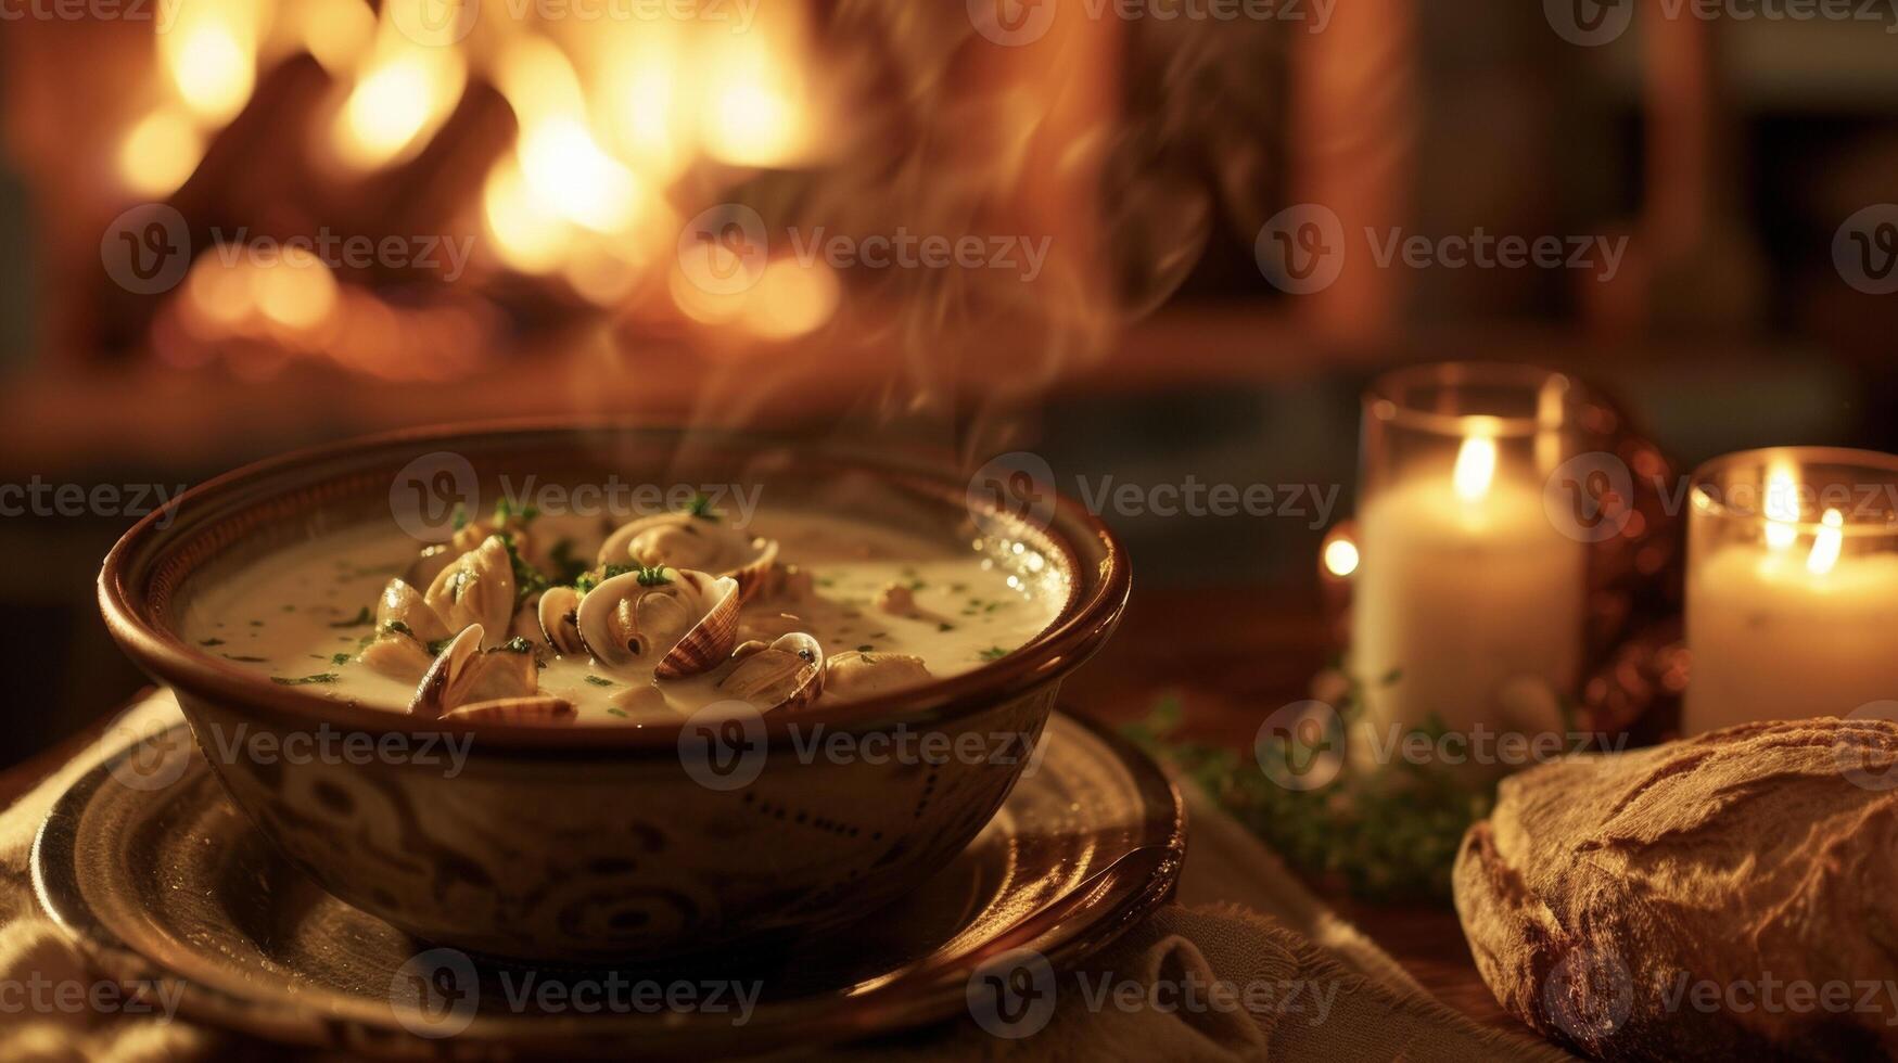
<path id="1" fill-rule="evenodd" d="M 594 662 L 619 676 L 679 680 L 710 672 L 738 642 L 738 581 L 666 569 L 664 583 L 615 575 L 581 598 L 575 630 Z"/>

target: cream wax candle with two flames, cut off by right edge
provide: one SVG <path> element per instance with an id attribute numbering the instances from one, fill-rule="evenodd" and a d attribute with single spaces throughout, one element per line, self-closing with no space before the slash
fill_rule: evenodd
<path id="1" fill-rule="evenodd" d="M 1845 554 L 1837 509 L 1809 537 L 1767 520 L 1689 558 L 1682 735 L 1898 699 L 1898 554 Z"/>

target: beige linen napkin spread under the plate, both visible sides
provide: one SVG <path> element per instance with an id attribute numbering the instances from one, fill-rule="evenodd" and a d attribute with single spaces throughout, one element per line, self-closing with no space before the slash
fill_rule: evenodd
<path id="1" fill-rule="evenodd" d="M 158 691 L 0 814 L 0 1059 L 201 1059 L 247 1042 L 190 1021 L 101 1012 L 84 955 L 38 909 L 28 852 L 65 788 L 127 735 L 180 719 Z M 985 1014 L 828 1057 L 856 1059 L 1572 1059 L 1528 1035 L 1444 1008 L 1336 917 L 1241 826 L 1190 797 L 1192 843 L 1177 904 L 1127 930 L 1084 970 L 1053 972 L 1044 1014 Z M 74 987 L 74 989 L 59 989 Z M 989 1029 L 1002 1023 L 1000 1031 Z"/>

